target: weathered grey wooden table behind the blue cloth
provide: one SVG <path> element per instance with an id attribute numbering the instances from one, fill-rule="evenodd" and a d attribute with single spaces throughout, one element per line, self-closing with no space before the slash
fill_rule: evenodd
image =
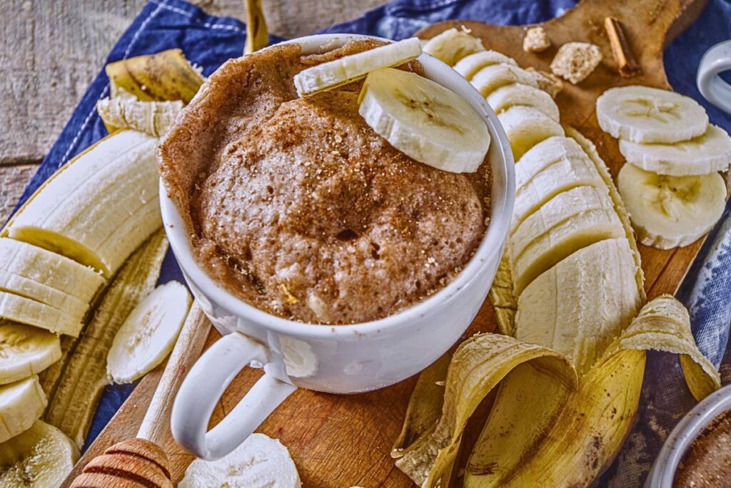
<path id="1" fill-rule="evenodd" d="M 147 0 L 0 1 L 0 224 L 114 42 Z M 243 0 L 191 0 L 243 18 Z M 270 32 L 298 37 L 384 0 L 264 0 Z"/>

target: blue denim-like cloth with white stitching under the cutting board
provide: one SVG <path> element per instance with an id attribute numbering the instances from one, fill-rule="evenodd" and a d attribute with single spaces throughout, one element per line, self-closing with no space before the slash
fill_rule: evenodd
<path id="1" fill-rule="evenodd" d="M 331 26 L 323 32 L 372 34 L 398 40 L 439 20 L 482 20 L 499 24 L 537 23 L 561 15 L 572 0 L 395 0 L 360 18 Z M 246 27 L 232 18 L 206 15 L 181 0 L 150 0 L 111 51 L 107 62 L 130 56 L 181 48 L 186 57 L 210 75 L 227 59 L 240 56 Z M 731 0 L 710 0 L 701 17 L 681 34 L 664 55 L 670 83 L 677 91 L 701 102 L 717 124 L 731 132 L 731 116 L 705 103 L 695 86 L 702 53 L 731 38 Z M 272 37 L 272 42 L 279 38 Z M 91 83 L 58 140 L 26 188 L 22 203 L 56 169 L 107 134 L 96 114 L 97 100 L 109 93 L 102 70 Z M 19 204 L 20 204 L 19 203 Z M 729 209 L 711 233 L 679 294 L 689 307 L 697 342 L 721 372 L 731 364 L 727 348 L 731 320 L 731 219 Z M 174 258 L 168 256 L 160 282 L 181 279 Z M 731 373 L 723 374 L 727 383 Z M 90 444 L 134 386 L 109 386 L 102 396 L 86 440 Z M 675 356 L 650 353 L 637 422 L 619 454 L 596 484 L 638 487 L 670 429 L 694 405 Z"/>

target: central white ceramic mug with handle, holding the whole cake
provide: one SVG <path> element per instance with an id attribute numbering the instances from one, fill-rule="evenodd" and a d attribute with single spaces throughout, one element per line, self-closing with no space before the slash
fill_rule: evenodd
<path id="1" fill-rule="evenodd" d="M 304 53 L 363 36 L 323 34 L 298 42 Z M 192 254 L 186 225 L 164 186 L 164 228 L 195 298 L 224 337 L 198 359 L 175 398 L 170 427 L 181 446 L 204 459 L 224 456 L 245 440 L 295 388 L 347 394 L 392 385 L 442 356 L 469 326 L 485 301 L 510 227 L 515 173 L 505 133 L 469 82 L 441 61 L 422 55 L 427 78 L 464 97 L 492 137 L 493 186 L 488 230 L 465 269 L 442 290 L 402 312 L 348 326 L 322 326 L 270 315 L 216 283 Z M 265 375 L 216 427 L 206 432 L 213 408 L 243 367 Z"/>

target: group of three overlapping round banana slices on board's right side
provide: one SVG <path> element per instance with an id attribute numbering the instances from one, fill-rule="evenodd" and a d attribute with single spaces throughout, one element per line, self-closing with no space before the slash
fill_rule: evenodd
<path id="1" fill-rule="evenodd" d="M 731 137 L 692 98 L 647 86 L 605 91 L 596 117 L 619 138 L 617 184 L 640 242 L 670 249 L 705 236 L 724 211 L 717 172 L 729 168 Z"/>

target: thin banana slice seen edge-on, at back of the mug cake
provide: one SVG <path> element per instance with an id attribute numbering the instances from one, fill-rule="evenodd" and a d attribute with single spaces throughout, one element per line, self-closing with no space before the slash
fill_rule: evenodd
<path id="1" fill-rule="evenodd" d="M 308 97 L 365 78 L 379 68 L 404 64 L 420 55 L 421 43 L 416 37 L 393 42 L 302 70 L 295 75 L 295 88 L 300 97 Z"/>

